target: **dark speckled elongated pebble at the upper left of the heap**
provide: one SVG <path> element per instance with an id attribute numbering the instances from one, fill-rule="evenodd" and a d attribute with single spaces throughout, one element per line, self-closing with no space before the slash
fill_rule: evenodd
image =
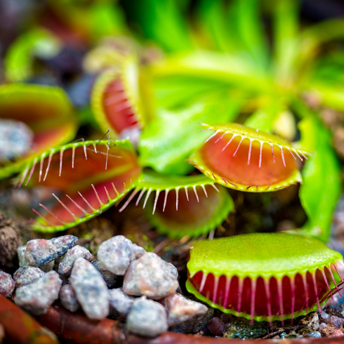
<path id="1" fill-rule="evenodd" d="M 77 239 L 73 235 L 64 235 L 51 240 L 30 240 L 25 251 L 27 265 L 38 267 L 47 265 L 56 258 L 63 256 L 68 249 L 72 249 Z"/>

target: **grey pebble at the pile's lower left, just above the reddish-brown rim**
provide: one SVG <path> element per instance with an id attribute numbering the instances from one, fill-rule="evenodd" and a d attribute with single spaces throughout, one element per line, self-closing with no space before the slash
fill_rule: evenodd
<path id="1" fill-rule="evenodd" d="M 57 272 L 48 272 L 36 282 L 18 288 L 14 302 L 33 315 L 42 315 L 58 299 L 61 284 Z"/>

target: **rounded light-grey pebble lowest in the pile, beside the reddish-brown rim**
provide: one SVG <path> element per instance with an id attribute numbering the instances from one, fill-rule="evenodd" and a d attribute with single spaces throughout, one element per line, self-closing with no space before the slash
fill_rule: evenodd
<path id="1" fill-rule="evenodd" d="M 138 336 L 157 337 L 168 329 L 166 310 L 160 303 L 138 298 L 128 314 L 126 327 Z"/>

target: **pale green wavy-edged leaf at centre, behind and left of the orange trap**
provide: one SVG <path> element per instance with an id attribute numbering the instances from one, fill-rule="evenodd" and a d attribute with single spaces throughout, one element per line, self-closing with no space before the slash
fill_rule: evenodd
<path id="1" fill-rule="evenodd" d="M 241 104 L 242 100 L 221 93 L 189 107 L 157 110 L 156 118 L 144 129 L 138 145 L 140 164 L 160 173 L 187 174 L 193 166 L 185 159 L 209 136 L 199 133 L 199 124 L 232 121 L 237 117 Z"/>

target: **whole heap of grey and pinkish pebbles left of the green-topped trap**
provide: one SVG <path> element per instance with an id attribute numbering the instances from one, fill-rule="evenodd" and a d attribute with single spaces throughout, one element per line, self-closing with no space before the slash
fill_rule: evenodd
<path id="1" fill-rule="evenodd" d="M 118 317 L 128 332 L 145 337 L 207 316 L 208 307 L 176 292 L 176 267 L 155 253 L 118 235 L 103 242 L 93 260 L 77 240 L 65 235 L 20 246 L 20 267 L 13 277 L 0 272 L 0 293 L 10 297 L 15 290 L 14 302 L 32 315 L 44 314 L 60 299 L 70 312 L 81 308 L 90 319 Z M 53 262 L 59 258 L 56 272 Z M 114 289 L 117 276 L 124 282 Z"/>

